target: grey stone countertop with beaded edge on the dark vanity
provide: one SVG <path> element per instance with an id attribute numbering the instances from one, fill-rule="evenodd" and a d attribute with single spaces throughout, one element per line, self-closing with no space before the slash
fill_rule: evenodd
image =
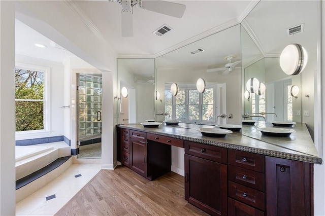
<path id="1" fill-rule="evenodd" d="M 272 124 L 271 124 L 272 125 Z M 203 136 L 199 128 L 216 128 L 209 125 L 193 125 L 179 123 L 179 125 L 165 125 L 156 128 L 147 128 L 140 123 L 119 124 L 119 128 L 139 130 L 147 133 L 163 135 L 188 141 L 235 149 L 272 157 L 298 160 L 309 163 L 321 164 L 322 159 L 318 157 L 317 150 L 310 137 L 307 127 L 303 123 L 295 124 L 293 132 L 289 137 L 273 137 L 262 135 L 258 127 L 272 127 L 268 124 L 257 126 L 243 125 L 242 130 L 227 134 L 225 137 Z M 242 135 L 242 131 L 244 135 Z"/>

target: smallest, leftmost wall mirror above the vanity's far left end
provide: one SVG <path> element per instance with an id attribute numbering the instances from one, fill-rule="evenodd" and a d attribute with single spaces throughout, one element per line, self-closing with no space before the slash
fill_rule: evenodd
<path id="1" fill-rule="evenodd" d="M 152 119 L 154 115 L 154 59 L 117 59 L 117 123 Z M 124 87 L 124 88 L 123 88 Z M 122 90 L 123 89 L 123 90 Z M 127 94 L 123 94 L 127 92 Z"/>

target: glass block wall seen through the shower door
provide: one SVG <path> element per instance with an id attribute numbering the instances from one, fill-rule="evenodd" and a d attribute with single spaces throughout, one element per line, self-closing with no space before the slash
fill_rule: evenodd
<path id="1" fill-rule="evenodd" d="M 102 133 L 102 76 L 79 75 L 79 137 Z"/>

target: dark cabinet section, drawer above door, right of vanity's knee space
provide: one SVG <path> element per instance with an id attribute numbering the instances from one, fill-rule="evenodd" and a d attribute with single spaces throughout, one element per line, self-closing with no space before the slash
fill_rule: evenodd
<path id="1" fill-rule="evenodd" d="M 185 141 L 185 199 L 211 215 L 227 214 L 227 149 Z"/>

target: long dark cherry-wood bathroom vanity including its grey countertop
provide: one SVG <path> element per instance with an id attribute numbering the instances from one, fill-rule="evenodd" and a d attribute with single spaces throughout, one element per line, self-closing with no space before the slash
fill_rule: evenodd
<path id="1" fill-rule="evenodd" d="M 153 180 L 171 170 L 171 146 L 184 148 L 185 199 L 207 213 L 313 215 L 313 163 L 322 160 L 305 124 L 290 137 L 266 137 L 278 144 L 242 132 L 207 137 L 198 127 L 213 126 L 117 125 L 118 160 Z"/>

